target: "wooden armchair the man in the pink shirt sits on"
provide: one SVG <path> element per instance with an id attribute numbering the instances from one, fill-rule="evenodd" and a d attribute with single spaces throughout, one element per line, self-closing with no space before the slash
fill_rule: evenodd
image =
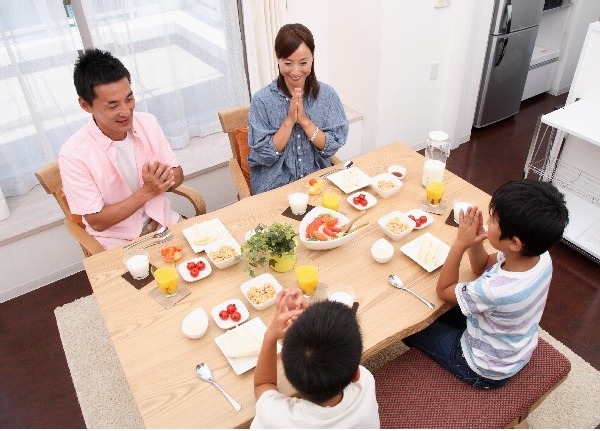
<path id="1" fill-rule="evenodd" d="M 49 165 L 37 170 L 35 176 L 38 181 L 46 190 L 46 193 L 54 196 L 58 205 L 65 214 L 64 224 L 67 231 L 75 237 L 79 242 L 83 254 L 88 257 L 96 253 L 104 251 L 104 247 L 85 230 L 85 224 L 83 223 L 83 217 L 71 213 L 69 209 L 69 203 L 63 192 L 62 179 L 60 177 L 60 170 L 58 168 L 58 162 L 54 161 Z M 202 195 L 194 188 L 180 185 L 172 191 L 176 195 L 180 195 L 190 201 L 194 207 L 195 215 L 206 214 L 206 202 Z"/>

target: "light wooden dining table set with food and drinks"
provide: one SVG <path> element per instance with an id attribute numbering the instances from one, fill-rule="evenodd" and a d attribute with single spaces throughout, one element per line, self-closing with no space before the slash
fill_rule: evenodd
<path id="1" fill-rule="evenodd" d="M 449 305 L 435 293 L 439 269 L 427 272 L 419 264 L 402 253 L 399 248 L 429 232 L 448 245 L 452 244 L 457 228 L 446 223 L 452 213 L 455 199 L 471 202 L 484 209 L 490 196 L 453 173 L 446 171 L 446 191 L 442 203 L 447 209 L 442 215 L 430 214 L 434 221 L 420 230 L 413 230 L 406 237 L 394 242 L 392 259 L 380 264 L 373 260 L 370 249 L 379 238 L 385 237 L 378 226 L 378 219 L 391 211 L 417 208 L 423 203 L 425 189 L 421 185 L 424 158 L 401 143 L 391 143 L 356 157 L 354 166 L 373 177 L 385 172 L 390 165 L 406 167 L 402 178 L 402 189 L 387 199 L 378 198 L 372 208 L 367 209 L 361 221 L 368 221 L 349 243 L 332 250 L 309 250 L 302 244 L 297 249 L 297 264 L 311 262 L 319 267 L 319 286 L 315 298 L 327 286 L 346 284 L 352 287 L 358 303 L 357 317 L 360 322 L 364 354 L 363 360 L 372 358 L 404 337 L 429 325 L 446 311 Z M 332 171 L 330 167 L 316 172 L 314 176 Z M 303 186 L 306 179 L 256 196 L 242 199 L 202 216 L 183 220 L 170 229 L 174 239 L 183 246 L 183 260 L 197 256 L 206 257 L 205 252 L 194 253 L 182 234 L 182 229 L 196 223 L 219 218 L 238 243 L 244 243 L 245 234 L 259 223 L 291 223 L 298 230 L 300 222 L 282 213 L 287 209 L 288 192 Z M 372 194 L 373 191 L 366 188 Z M 358 210 L 343 199 L 339 211 L 349 218 Z M 311 196 L 311 205 L 320 205 L 320 197 Z M 485 247 L 492 251 L 489 244 Z M 161 264 L 158 250 L 150 247 L 150 261 Z M 124 375 L 144 424 L 148 428 L 236 428 L 249 426 L 255 413 L 253 390 L 254 369 L 237 375 L 227 358 L 215 342 L 225 333 L 210 316 L 211 309 L 224 301 L 237 298 L 250 311 L 250 319 L 260 317 L 268 325 L 275 307 L 263 311 L 255 310 L 244 298 L 240 285 L 250 279 L 244 271 L 242 260 L 227 269 L 212 268 L 212 273 L 201 280 L 188 283 L 180 279 L 191 293 L 171 308 L 165 309 L 149 292 L 156 288 L 151 281 L 141 289 L 134 288 L 122 275 L 124 250 L 117 247 L 84 260 L 94 297 L 114 344 Z M 296 287 L 294 271 L 276 273 L 270 269 L 284 287 Z M 261 271 L 259 270 L 260 274 Z M 404 284 L 435 305 L 431 310 L 410 293 L 395 289 L 388 283 L 388 275 L 397 274 Z M 461 280 L 472 280 L 465 257 L 460 268 Z M 311 300 L 317 300 L 317 299 Z M 189 339 L 181 330 L 183 318 L 195 308 L 202 307 L 209 315 L 206 334 L 200 339 Z M 242 405 L 236 412 L 217 388 L 203 382 L 195 374 L 199 362 L 210 365 L 215 380 Z M 279 389 L 294 394 L 293 387 L 286 381 L 278 361 Z M 98 384 L 102 384 L 98 382 Z"/>

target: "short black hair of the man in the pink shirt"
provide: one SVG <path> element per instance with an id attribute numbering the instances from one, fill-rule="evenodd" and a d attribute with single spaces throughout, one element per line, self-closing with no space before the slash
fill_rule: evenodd
<path id="1" fill-rule="evenodd" d="M 90 105 L 96 98 L 94 92 L 96 85 L 110 84 L 123 78 L 131 82 L 131 75 L 127 68 L 108 51 L 86 49 L 75 62 L 73 72 L 75 90 L 77 95 Z"/>

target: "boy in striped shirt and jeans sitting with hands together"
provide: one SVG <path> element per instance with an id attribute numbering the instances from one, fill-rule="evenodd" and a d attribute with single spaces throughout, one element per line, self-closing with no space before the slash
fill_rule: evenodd
<path id="1" fill-rule="evenodd" d="M 484 389 L 504 386 L 529 362 L 552 277 L 548 249 L 569 221 L 562 193 L 533 180 L 501 186 L 489 213 L 486 232 L 480 209 L 461 210 L 458 233 L 437 282 L 438 296 L 458 307 L 404 340 Z M 488 255 L 485 239 L 496 253 Z M 465 252 L 480 275 L 471 282 L 458 280 Z"/>

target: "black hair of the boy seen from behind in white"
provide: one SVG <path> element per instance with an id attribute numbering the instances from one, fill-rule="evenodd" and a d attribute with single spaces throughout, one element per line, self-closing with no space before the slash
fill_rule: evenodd
<path id="1" fill-rule="evenodd" d="M 362 356 L 362 336 L 346 305 L 310 305 L 288 329 L 281 350 L 288 381 L 304 399 L 322 403 L 352 382 Z"/>

